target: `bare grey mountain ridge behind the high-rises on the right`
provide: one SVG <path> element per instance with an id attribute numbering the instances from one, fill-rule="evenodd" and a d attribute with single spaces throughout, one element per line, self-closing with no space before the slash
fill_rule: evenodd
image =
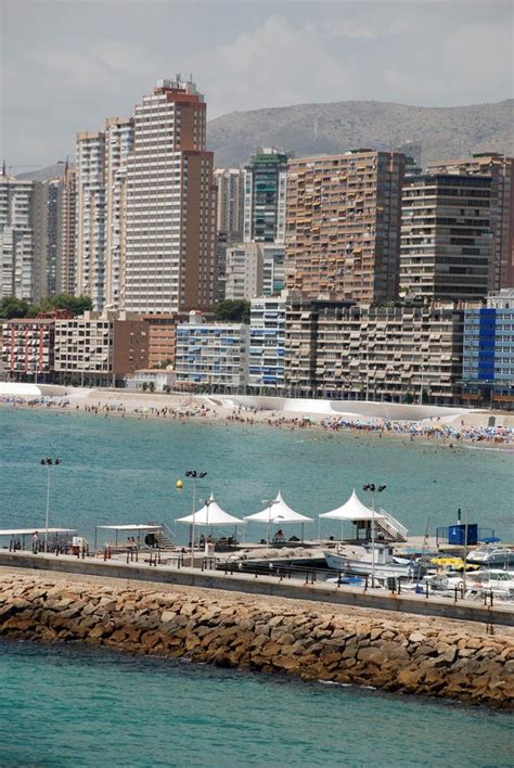
<path id="1" fill-rule="evenodd" d="M 422 163 L 474 152 L 514 154 L 514 99 L 472 106 L 407 106 L 376 101 L 298 104 L 233 112 L 210 120 L 208 145 L 217 167 L 245 164 L 257 146 L 297 157 L 355 148 L 422 145 Z"/>

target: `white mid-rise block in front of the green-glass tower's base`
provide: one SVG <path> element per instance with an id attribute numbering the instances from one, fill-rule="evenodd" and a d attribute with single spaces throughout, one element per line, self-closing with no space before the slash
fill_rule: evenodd
<path id="1" fill-rule="evenodd" d="M 264 287 L 264 256 L 259 243 L 241 243 L 227 248 L 224 297 L 247 299 L 260 296 Z"/>

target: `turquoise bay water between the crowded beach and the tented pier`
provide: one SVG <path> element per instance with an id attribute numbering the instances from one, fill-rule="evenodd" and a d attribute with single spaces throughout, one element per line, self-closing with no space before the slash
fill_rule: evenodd
<path id="1" fill-rule="evenodd" d="M 460 507 L 470 522 L 514 539 L 514 452 L 505 450 L 0 408 L 0 527 L 43 527 L 43 456 L 63 458 L 52 475 L 51 523 L 79 528 L 90 540 L 97 524 L 156 520 L 172 526 L 191 512 L 188 469 L 208 472 L 198 482 L 200 498 L 213 490 L 237 516 L 262 509 L 261 500 L 278 488 L 294 509 L 316 516 L 346 501 L 354 486 L 367 501 L 359 489 L 375 482 L 387 484 L 380 501 L 412 534 L 423 534 L 427 520 L 431 533 L 454 523 Z M 177 526 L 182 541 L 184 527 Z M 323 522 L 323 534 L 339 530 L 338 523 Z M 309 532 L 317 535 L 317 522 L 306 525 Z M 286 533 L 300 530 L 288 526 Z M 264 535 L 262 526 L 247 526 L 247 539 Z"/>

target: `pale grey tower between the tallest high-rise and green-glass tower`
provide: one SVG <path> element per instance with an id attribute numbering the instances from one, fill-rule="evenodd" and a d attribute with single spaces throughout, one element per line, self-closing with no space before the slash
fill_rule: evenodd
<path id="1" fill-rule="evenodd" d="M 241 243 L 244 226 L 244 170 L 216 168 L 216 231 L 227 235 L 228 244 Z"/>

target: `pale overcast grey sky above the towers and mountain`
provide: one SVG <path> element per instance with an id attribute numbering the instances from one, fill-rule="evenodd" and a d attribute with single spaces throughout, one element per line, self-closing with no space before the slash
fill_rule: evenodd
<path id="1" fill-rule="evenodd" d="M 193 73 L 210 118 L 309 102 L 512 97 L 511 0 L 0 0 L 2 156 L 48 165 L 78 130 Z M 18 168 L 18 170 L 21 170 Z"/>

